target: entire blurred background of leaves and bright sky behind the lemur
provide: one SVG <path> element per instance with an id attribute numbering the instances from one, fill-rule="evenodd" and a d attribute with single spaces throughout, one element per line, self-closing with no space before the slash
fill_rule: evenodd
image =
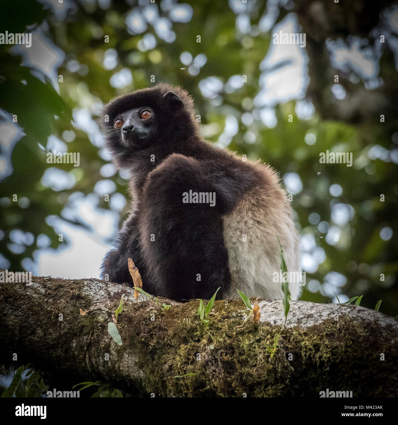
<path id="1" fill-rule="evenodd" d="M 114 96 L 168 82 L 192 94 L 206 139 L 280 173 L 302 299 L 364 295 L 398 314 L 395 3 L 15 0 L 1 11 L 0 32 L 31 32 L 32 46 L 0 45 L 0 268 L 99 276 L 129 176 L 96 119 Z M 274 44 L 279 31 L 306 34 L 305 47 Z M 80 153 L 79 167 L 48 164 L 53 150 Z M 352 167 L 321 164 L 326 150 L 352 153 Z"/>

